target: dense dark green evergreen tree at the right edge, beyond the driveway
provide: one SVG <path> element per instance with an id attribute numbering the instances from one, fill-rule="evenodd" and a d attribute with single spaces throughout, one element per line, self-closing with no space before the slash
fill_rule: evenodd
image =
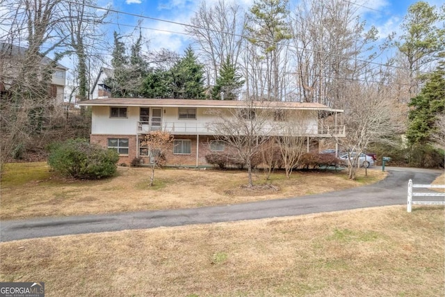
<path id="1" fill-rule="evenodd" d="M 411 99 L 413 107 L 409 114 L 409 127 L 406 132 L 412 145 L 425 145 L 437 129 L 437 119 L 444 116 L 445 106 L 445 67 L 444 63 L 428 76 L 419 95 Z"/>

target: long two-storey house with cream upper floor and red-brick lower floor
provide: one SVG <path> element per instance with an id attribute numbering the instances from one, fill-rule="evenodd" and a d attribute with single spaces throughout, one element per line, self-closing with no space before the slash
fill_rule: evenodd
<path id="1" fill-rule="evenodd" d="M 215 111 L 231 116 L 233 109 L 246 109 L 245 101 L 195 100 L 195 99 L 95 99 L 81 102 L 80 106 L 90 106 L 92 111 L 91 143 L 99 143 L 103 147 L 113 148 L 120 153 L 120 163 L 131 163 L 135 157 L 146 157 L 147 149 L 140 146 L 143 135 L 154 130 L 169 131 L 175 138 L 169 152 L 164 152 L 169 166 L 209 166 L 205 156 L 210 152 L 227 152 L 224 143 L 215 141 L 215 132 L 209 129 L 211 123 L 219 118 Z M 332 136 L 344 137 L 343 125 L 337 124 L 337 115 L 343 111 L 330 109 L 323 104 L 307 102 L 254 102 L 253 109 L 267 109 L 271 114 L 280 115 L 280 111 L 289 111 L 298 118 L 305 114 L 304 129 L 300 136 L 309 140 Z M 282 113 L 281 113 L 282 114 Z M 320 115 L 332 115 L 326 121 Z M 269 121 L 268 121 L 269 122 Z M 321 125 L 330 122 L 330 126 Z M 270 117 L 270 124 L 287 125 L 283 117 Z M 329 131 L 329 132 L 328 132 Z M 280 135 L 275 130 L 274 135 Z"/>

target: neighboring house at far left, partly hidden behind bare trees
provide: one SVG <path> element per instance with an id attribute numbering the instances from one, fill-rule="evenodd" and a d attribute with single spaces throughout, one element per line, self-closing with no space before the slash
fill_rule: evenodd
<path id="1" fill-rule="evenodd" d="M 19 72 L 19 66 L 24 58 L 26 47 L 19 47 L 17 45 L 10 45 L 8 43 L 0 43 L 0 92 L 7 92 L 11 88 Z M 54 62 L 51 58 L 43 56 L 40 63 L 47 65 Z M 63 95 L 65 91 L 65 77 L 67 67 L 56 63 L 56 67 L 51 77 L 50 97 L 54 106 L 62 106 Z"/>

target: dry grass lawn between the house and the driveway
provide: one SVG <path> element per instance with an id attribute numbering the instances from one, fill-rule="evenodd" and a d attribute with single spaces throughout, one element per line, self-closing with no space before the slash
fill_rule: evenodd
<path id="1" fill-rule="evenodd" d="M 116 177 L 76 181 L 55 177 L 46 163 L 6 164 L 1 175 L 1 220 L 39 216 L 74 216 L 115 211 L 179 209 L 289 198 L 371 184 L 385 177 L 378 168 L 360 170 L 356 181 L 346 172 L 283 172 L 254 183 L 273 187 L 243 188 L 248 175 L 239 170 L 159 169 L 152 188 L 149 168 L 118 168 Z M 277 189 L 277 190 L 276 190 Z"/>

